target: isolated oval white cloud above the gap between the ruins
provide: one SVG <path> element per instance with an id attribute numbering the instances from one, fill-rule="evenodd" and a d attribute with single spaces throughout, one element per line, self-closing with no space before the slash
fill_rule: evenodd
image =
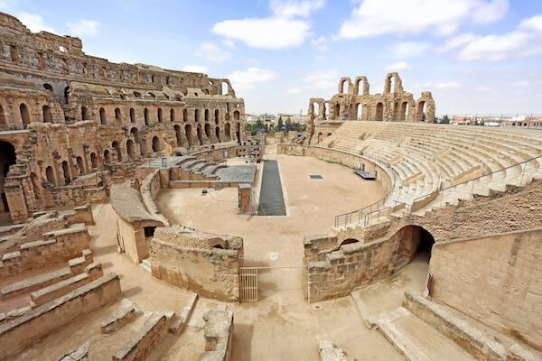
<path id="1" fill-rule="evenodd" d="M 273 50 L 301 45 L 311 35 L 309 29 L 309 23 L 302 20 L 277 17 L 226 20 L 212 27 L 213 32 L 249 47 Z"/>

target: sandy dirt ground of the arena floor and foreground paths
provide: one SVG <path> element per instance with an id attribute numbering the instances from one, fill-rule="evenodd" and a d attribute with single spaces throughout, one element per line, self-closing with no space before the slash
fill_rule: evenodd
<path id="1" fill-rule="evenodd" d="M 237 214 L 237 189 L 161 190 L 160 211 L 172 224 L 182 224 L 211 233 L 242 236 L 245 265 L 300 265 L 305 235 L 329 233 L 336 214 L 361 208 L 382 197 L 374 181 L 363 180 L 349 168 L 309 157 L 277 155 L 266 149 L 267 159 L 279 164 L 285 193 L 286 217 L 250 217 Z M 244 161 L 231 160 L 233 163 Z M 261 164 L 256 188 L 259 194 Z M 322 180 L 310 180 L 310 174 Z M 104 273 L 119 274 L 123 297 L 142 310 L 174 310 L 187 306 L 192 293 L 155 279 L 143 267 L 117 253 L 116 218 L 109 204 L 94 206 L 96 226 L 89 227 L 90 247 Z M 272 260 L 276 254 L 276 260 Z M 397 308 L 402 292 L 421 290 L 427 260 L 420 256 L 400 273 L 357 291 L 364 312 L 370 314 Z M 232 360 L 316 360 L 318 340 L 331 340 L 357 360 L 403 360 L 397 350 L 376 330 L 369 330 L 352 297 L 314 304 L 304 300 L 301 268 L 261 271 L 258 302 L 229 303 L 199 299 L 189 325 L 181 336 L 168 334 L 149 360 L 195 360 L 203 352 L 205 310 L 227 306 L 234 312 Z M 91 359 L 110 359 L 131 338 L 143 322 L 139 316 L 130 327 L 112 338 L 101 337 L 99 323 L 119 307 L 120 302 L 97 310 L 62 328 L 18 356 L 17 360 L 58 360 L 66 352 L 91 340 Z M 124 328 L 123 328 L 124 329 Z M 106 357 L 107 356 L 107 357 Z M 96 357 L 96 358 L 95 358 Z M 103 357 L 103 358 L 102 358 Z"/>

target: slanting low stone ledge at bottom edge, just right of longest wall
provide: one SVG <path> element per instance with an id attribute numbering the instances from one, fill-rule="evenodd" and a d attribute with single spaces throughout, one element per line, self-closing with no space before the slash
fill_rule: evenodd
<path id="1" fill-rule="evenodd" d="M 125 346 L 113 356 L 113 361 L 145 360 L 153 352 L 154 347 L 164 338 L 170 319 L 164 312 L 154 312 L 145 320 L 143 328 L 135 338 L 126 342 Z"/>

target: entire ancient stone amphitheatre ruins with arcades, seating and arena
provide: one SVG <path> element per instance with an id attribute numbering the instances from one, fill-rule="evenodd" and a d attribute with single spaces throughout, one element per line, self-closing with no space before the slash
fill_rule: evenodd
<path id="1" fill-rule="evenodd" d="M 0 13 L 0 360 L 542 360 L 542 133 L 436 106 L 341 78 L 253 136 Z"/>

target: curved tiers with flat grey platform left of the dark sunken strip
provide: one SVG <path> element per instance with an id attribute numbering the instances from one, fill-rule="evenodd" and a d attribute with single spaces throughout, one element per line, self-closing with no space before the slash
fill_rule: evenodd
<path id="1" fill-rule="evenodd" d="M 220 188 L 254 185 L 256 165 L 228 165 L 193 155 L 156 158 L 139 166 L 135 176 L 143 180 L 158 169 L 161 188 Z"/>

